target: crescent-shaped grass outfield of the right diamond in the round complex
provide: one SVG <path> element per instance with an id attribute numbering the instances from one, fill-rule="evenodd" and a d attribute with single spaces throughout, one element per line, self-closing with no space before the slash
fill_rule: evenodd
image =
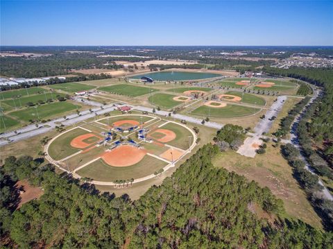
<path id="1" fill-rule="evenodd" d="M 168 141 L 166 144 L 187 150 L 189 148 L 189 142 L 193 142 L 194 137 L 191 132 L 186 128 L 177 125 L 176 123 L 167 123 L 165 126 L 162 126 L 161 129 L 172 130 L 176 133 L 176 139 Z M 191 138 L 189 138 L 191 136 Z M 191 139 L 191 141 L 189 141 Z"/>

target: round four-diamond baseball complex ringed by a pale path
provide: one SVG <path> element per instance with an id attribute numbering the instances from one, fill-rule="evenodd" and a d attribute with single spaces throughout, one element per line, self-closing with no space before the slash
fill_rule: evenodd
<path id="1" fill-rule="evenodd" d="M 142 182 L 167 171 L 196 146 L 182 123 L 145 114 L 97 119 L 53 137 L 44 152 L 52 164 L 94 184 Z"/>

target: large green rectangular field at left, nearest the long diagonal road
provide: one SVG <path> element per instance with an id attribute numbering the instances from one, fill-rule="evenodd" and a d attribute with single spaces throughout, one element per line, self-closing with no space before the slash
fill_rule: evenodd
<path id="1" fill-rule="evenodd" d="M 80 108 L 80 105 L 73 105 L 67 101 L 46 103 L 44 105 L 35 105 L 34 107 L 10 112 L 10 116 L 16 117 L 19 120 L 29 121 L 30 119 L 36 120 L 49 119 L 50 117 L 62 114 L 71 110 Z M 38 113 L 38 115 L 37 115 Z"/>

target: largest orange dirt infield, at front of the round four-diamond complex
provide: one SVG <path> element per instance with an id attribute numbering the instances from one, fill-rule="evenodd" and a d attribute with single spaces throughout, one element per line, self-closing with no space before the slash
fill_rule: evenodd
<path id="1" fill-rule="evenodd" d="M 121 145 L 102 155 L 104 162 L 114 167 L 126 167 L 140 162 L 146 151 L 130 145 Z"/>

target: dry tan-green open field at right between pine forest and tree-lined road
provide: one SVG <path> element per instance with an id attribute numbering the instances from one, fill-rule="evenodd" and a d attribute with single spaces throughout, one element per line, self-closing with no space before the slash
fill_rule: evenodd
<path id="1" fill-rule="evenodd" d="M 268 143 L 266 153 L 255 158 L 227 151 L 214 158 L 213 164 L 244 175 L 248 180 L 255 180 L 262 187 L 268 187 L 275 196 L 283 200 L 289 216 L 322 227 L 321 219 L 293 178 L 291 166 L 282 157 L 280 148 L 273 148 Z"/>

